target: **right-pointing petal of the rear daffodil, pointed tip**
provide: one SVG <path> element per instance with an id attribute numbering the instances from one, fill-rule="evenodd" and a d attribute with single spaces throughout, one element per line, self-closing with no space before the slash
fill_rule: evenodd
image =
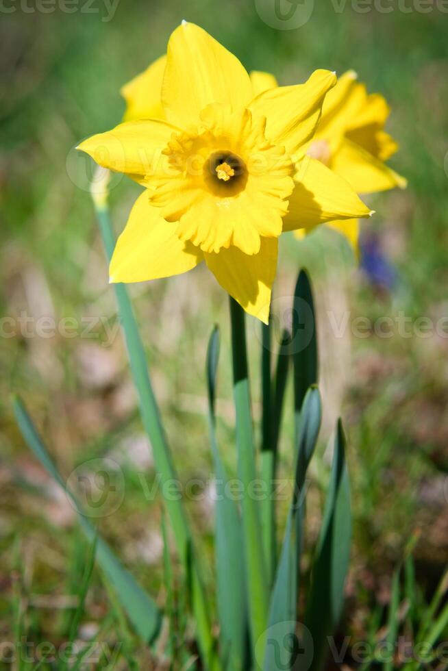
<path id="1" fill-rule="evenodd" d="M 384 191 L 396 186 L 406 188 L 404 177 L 350 140 L 340 143 L 330 165 L 358 193 Z"/>

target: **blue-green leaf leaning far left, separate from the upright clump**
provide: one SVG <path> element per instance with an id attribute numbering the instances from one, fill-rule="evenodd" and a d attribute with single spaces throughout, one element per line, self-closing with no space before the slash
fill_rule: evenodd
<path id="1" fill-rule="evenodd" d="M 36 427 L 30 418 L 25 405 L 20 398 L 16 397 L 13 401 L 14 414 L 21 430 L 25 442 L 34 455 L 38 458 L 42 466 L 49 472 L 51 477 L 60 485 L 66 492 L 67 496 L 71 498 L 77 511 L 81 511 L 82 507 L 79 501 L 66 487 L 66 483 L 60 472 L 56 468 L 51 459 L 47 448 L 45 447 Z M 97 530 L 81 513 L 78 514 L 79 524 L 82 527 L 88 541 L 90 543 L 95 541 L 97 537 Z M 123 609 L 127 612 L 129 620 L 134 625 L 134 629 L 145 642 L 151 642 L 157 637 L 160 629 L 160 611 L 155 605 L 155 602 L 145 592 L 145 590 L 138 585 L 132 575 L 121 565 L 119 559 L 112 552 L 110 547 L 101 539 L 97 538 L 96 559 L 101 566 L 114 590 L 119 596 Z"/>

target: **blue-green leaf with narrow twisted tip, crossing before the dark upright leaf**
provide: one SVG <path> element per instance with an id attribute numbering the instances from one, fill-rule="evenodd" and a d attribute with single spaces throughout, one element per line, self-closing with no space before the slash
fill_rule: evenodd
<path id="1" fill-rule="evenodd" d="M 316 446 L 321 418 L 321 396 L 319 390 L 313 387 L 308 390 L 303 401 L 299 444 L 295 456 L 293 500 L 288 511 L 286 531 L 269 607 L 269 629 L 264 656 L 264 671 L 292 669 L 299 654 L 295 629 L 306 472 Z M 284 659 L 285 656 L 289 659 Z"/>

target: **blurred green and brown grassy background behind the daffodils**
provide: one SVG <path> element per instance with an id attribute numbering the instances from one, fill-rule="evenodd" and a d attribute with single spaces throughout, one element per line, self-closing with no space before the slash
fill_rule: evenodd
<path id="1" fill-rule="evenodd" d="M 93 0 L 70 5 L 68 13 L 63 10 L 69 5 L 58 1 L 10 0 L 0 9 L 1 640 L 11 640 L 17 581 L 29 635 L 64 639 L 86 553 L 73 509 L 18 434 L 11 392 L 27 401 L 65 477 L 95 457 L 120 464 L 126 496 L 100 528 L 138 579 L 164 600 L 160 496 L 147 501 L 141 482 L 142 474 L 147 483 L 154 477 L 151 450 L 87 190 L 90 164 L 74 147 L 119 123 L 119 88 L 164 52 L 182 18 L 207 29 L 247 69 L 271 71 L 282 84 L 303 81 L 314 68 L 338 74 L 353 68 L 392 107 L 388 130 L 401 146 L 392 164 L 408 178 L 408 190 L 369 200 L 377 214 L 364 225 L 364 236 L 373 236 L 394 268 L 393 287 L 372 281 L 332 231 L 303 242 L 288 236 L 274 312 L 285 318 L 297 270 L 306 266 L 319 311 L 325 405 L 321 451 L 312 470 L 311 538 L 327 479 L 327 439 L 339 413 L 349 435 L 355 520 L 342 631 L 362 637 L 375 607 L 388 602 L 393 567 L 411 537 L 417 579 L 428 596 L 447 564 L 447 320 L 445 331 L 433 329 L 425 337 L 395 330 L 392 338 L 382 338 L 372 330 L 355 338 L 348 328 L 335 338 L 327 311 L 338 322 L 349 312 L 349 323 L 357 316 L 375 320 L 402 312 L 411 330 L 422 316 L 435 325 L 448 314 L 448 14 L 441 3 L 426 3 L 423 12 L 412 0 L 377 3 L 369 12 L 365 3 L 362 11 L 354 2 L 315 5 L 307 23 L 282 30 L 266 25 L 251 1 L 118 0 L 113 11 Z M 384 6 L 392 11 L 380 11 Z M 112 186 L 118 233 L 138 187 L 117 177 Z M 203 368 L 216 321 L 223 331 L 220 439 L 229 464 L 234 461 L 227 296 L 203 268 L 134 286 L 132 295 L 177 468 L 185 481 L 205 481 L 212 468 Z M 72 320 L 64 322 L 73 327 L 70 338 L 51 333 L 51 324 L 63 318 Z M 248 334 L 257 412 L 260 339 L 252 320 Z M 285 429 L 282 466 L 288 475 L 290 412 Z M 203 489 L 201 501 L 188 503 L 188 509 L 210 537 L 211 496 Z M 109 608 L 101 584 L 95 577 L 86 636 Z M 150 668 L 149 661 L 140 664 Z"/>

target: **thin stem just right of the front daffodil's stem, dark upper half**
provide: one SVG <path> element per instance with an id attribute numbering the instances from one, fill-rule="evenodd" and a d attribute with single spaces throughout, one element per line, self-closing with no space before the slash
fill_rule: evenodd
<path id="1" fill-rule="evenodd" d="M 266 577 L 269 585 L 273 581 L 275 561 L 275 522 L 273 505 L 273 481 L 275 470 L 275 451 L 273 448 L 273 414 L 271 402 L 271 325 L 262 324 L 262 444 L 261 477 L 264 483 L 261 507 L 264 556 L 266 558 Z"/>

